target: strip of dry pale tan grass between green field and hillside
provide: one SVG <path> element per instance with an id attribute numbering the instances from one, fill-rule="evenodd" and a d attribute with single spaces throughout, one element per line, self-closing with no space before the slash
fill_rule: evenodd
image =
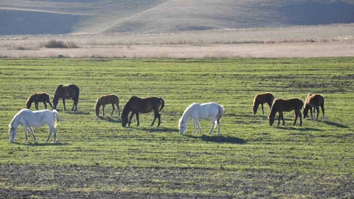
<path id="1" fill-rule="evenodd" d="M 0 57 L 58 55 L 175 58 L 354 56 L 354 24 L 173 34 L 0 36 Z"/>

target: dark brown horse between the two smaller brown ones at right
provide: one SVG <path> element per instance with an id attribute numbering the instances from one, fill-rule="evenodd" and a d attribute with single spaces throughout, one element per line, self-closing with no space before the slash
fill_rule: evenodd
<path id="1" fill-rule="evenodd" d="M 285 125 L 283 111 L 289 112 L 295 111 L 295 121 L 292 125 L 296 124 L 298 116 L 300 116 L 300 126 L 303 124 L 303 119 L 301 116 L 301 109 L 304 106 L 303 100 L 299 98 L 290 98 L 290 99 L 276 99 L 273 101 L 272 108 L 270 109 L 270 113 L 268 115 L 269 125 L 273 125 L 274 117 L 276 112 L 279 112 L 278 116 L 278 125 L 280 123 L 280 118 L 283 120 L 283 125 Z"/>

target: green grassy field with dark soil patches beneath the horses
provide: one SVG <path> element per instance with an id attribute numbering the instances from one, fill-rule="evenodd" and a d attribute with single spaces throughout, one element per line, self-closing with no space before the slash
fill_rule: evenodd
<path id="1" fill-rule="evenodd" d="M 2 197 L 353 197 L 354 58 L 0 59 L 0 196 Z M 64 111 L 58 143 L 26 143 L 22 127 L 9 143 L 8 124 L 33 92 L 80 87 L 78 112 Z M 252 113 L 253 97 L 321 93 L 326 121 L 269 126 Z M 115 93 L 121 110 L 132 95 L 165 100 L 160 127 L 140 114 L 131 127 L 96 117 L 100 95 Z M 221 135 L 178 133 L 193 102 L 225 107 Z M 71 108 L 72 101 L 67 101 Z M 33 105 L 34 107 L 34 105 Z M 39 107 L 42 109 L 43 105 Z M 106 107 L 106 114 L 110 113 Z M 265 106 L 268 113 L 269 107 Z M 109 114 L 107 114 L 109 115 Z"/>

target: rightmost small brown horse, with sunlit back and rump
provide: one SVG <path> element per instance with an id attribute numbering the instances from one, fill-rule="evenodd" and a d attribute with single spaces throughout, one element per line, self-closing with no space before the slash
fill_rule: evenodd
<path id="1" fill-rule="evenodd" d="M 320 114 L 320 109 L 318 108 L 321 106 L 322 109 L 322 121 L 324 121 L 324 97 L 321 94 L 309 94 L 305 100 L 305 107 L 304 107 L 304 118 L 307 117 L 309 113 L 309 109 L 311 112 L 311 119 L 312 121 L 315 119 L 315 109 L 317 110 L 317 117 L 316 121 L 318 121 L 318 115 Z M 312 114 L 312 108 L 313 114 Z"/>

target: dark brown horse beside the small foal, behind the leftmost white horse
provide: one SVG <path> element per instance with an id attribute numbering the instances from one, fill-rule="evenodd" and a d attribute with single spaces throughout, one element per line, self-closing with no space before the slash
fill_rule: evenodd
<path id="1" fill-rule="evenodd" d="M 59 85 L 56 87 L 55 93 L 54 93 L 54 98 L 53 98 L 53 105 L 54 109 L 56 109 L 56 105 L 58 104 L 58 101 L 60 98 L 63 98 L 63 105 L 64 105 L 64 110 L 67 110 L 65 107 L 65 99 L 70 99 L 72 98 L 74 100 L 74 105 L 73 108 L 71 109 L 74 111 L 78 110 L 78 102 L 79 102 L 79 94 L 80 90 L 79 87 L 77 87 L 75 84 L 69 84 L 69 85 Z"/>

